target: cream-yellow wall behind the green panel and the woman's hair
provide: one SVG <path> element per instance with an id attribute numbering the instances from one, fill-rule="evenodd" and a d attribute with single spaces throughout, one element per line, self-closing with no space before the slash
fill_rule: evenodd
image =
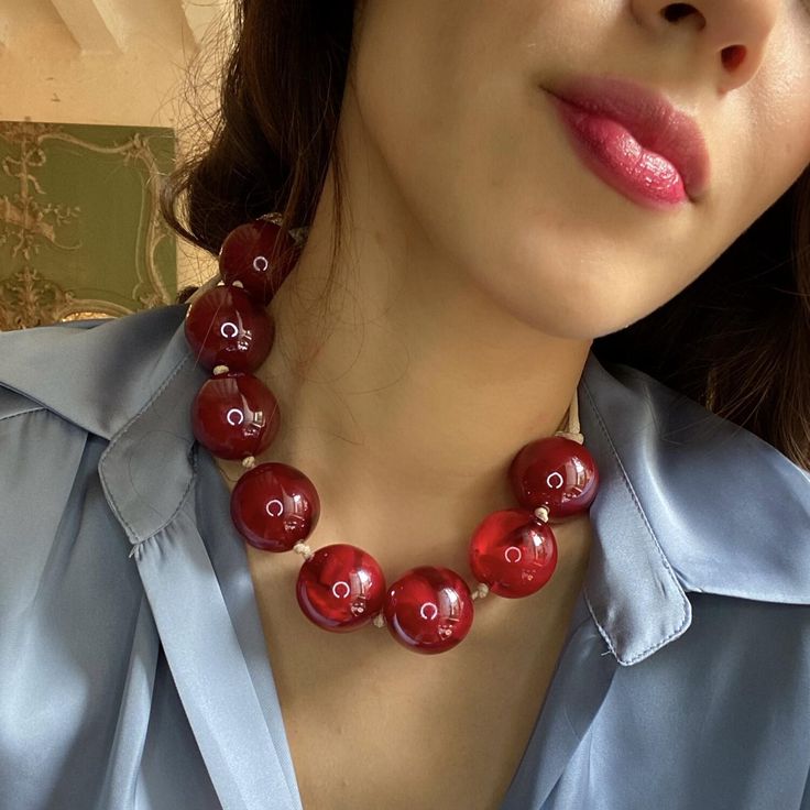
<path id="1" fill-rule="evenodd" d="M 228 0 L 0 0 L 0 120 L 178 129 L 180 154 L 200 138 L 185 87 L 189 64 L 217 75 Z M 218 44 L 221 43 L 221 44 Z M 216 273 L 206 252 L 178 240 L 178 282 Z"/>

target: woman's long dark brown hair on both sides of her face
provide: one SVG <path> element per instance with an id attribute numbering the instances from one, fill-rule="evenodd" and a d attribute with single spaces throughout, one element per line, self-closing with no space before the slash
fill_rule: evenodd
<path id="1" fill-rule="evenodd" d="M 231 229 L 269 212 L 287 230 L 308 226 L 333 160 L 333 263 L 343 174 L 335 135 L 353 10 L 351 0 L 237 1 L 210 142 L 162 189 L 163 216 L 182 237 L 216 254 Z M 593 352 L 810 469 L 810 168 L 692 284 L 598 338 Z"/>

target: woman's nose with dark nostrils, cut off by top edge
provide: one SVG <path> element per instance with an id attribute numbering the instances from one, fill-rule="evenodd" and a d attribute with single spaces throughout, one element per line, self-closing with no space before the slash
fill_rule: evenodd
<path id="1" fill-rule="evenodd" d="M 722 92 L 749 81 L 759 69 L 782 6 L 782 0 L 630 2 L 638 23 L 661 42 L 678 36 L 693 47 L 693 58 L 714 72 Z"/>

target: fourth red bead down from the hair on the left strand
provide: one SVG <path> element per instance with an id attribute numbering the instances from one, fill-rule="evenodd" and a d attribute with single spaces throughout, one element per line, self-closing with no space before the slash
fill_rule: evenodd
<path id="1" fill-rule="evenodd" d="M 318 524 L 320 497 L 295 467 L 269 461 L 243 473 L 231 493 L 231 519 L 262 551 L 289 551 Z"/>

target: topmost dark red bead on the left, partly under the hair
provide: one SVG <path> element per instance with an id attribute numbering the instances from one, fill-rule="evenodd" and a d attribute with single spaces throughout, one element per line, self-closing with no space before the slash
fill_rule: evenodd
<path id="1" fill-rule="evenodd" d="M 270 304 L 298 261 L 293 237 L 275 222 L 256 219 L 234 228 L 219 251 L 219 272 L 226 284 L 240 281 L 262 306 Z"/>

